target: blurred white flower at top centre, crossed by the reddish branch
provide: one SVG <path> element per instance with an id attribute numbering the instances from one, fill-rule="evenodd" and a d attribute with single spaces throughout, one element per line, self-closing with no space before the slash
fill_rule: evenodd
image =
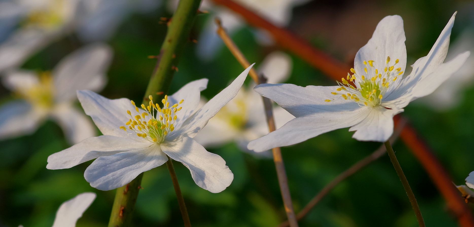
<path id="1" fill-rule="evenodd" d="M 292 9 L 302 5 L 310 0 L 235 0 L 242 6 L 252 10 L 264 19 L 269 20 L 273 24 L 285 27 L 292 18 Z M 168 9 L 172 12 L 176 9 L 179 0 L 170 0 Z M 207 21 L 203 28 L 201 37 L 198 39 L 197 54 L 203 60 L 212 59 L 222 47 L 222 40 L 217 35 L 217 25 L 214 18 L 218 17 L 222 21 L 222 25 L 229 34 L 233 34 L 240 28 L 245 26 L 245 20 L 230 9 L 215 6 L 210 0 L 203 0 L 201 10 L 208 10 L 212 14 L 212 18 Z M 256 32 L 256 38 L 262 44 L 271 44 L 273 39 L 263 30 Z"/>

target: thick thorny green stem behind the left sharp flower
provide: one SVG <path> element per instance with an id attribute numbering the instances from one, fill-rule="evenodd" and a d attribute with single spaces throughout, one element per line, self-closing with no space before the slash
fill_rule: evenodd
<path id="1" fill-rule="evenodd" d="M 201 0 L 180 0 L 173 19 L 169 23 L 168 32 L 164 38 L 155 71 L 146 88 L 143 104 L 148 104 L 148 95 L 152 95 L 155 100 L 161 100 L 164 94 L 168 92 L 174 72 L 177 70 L 178 60 L 188 41 L 200 3 Z M 112 205 L 109 227 L 130 226 L 142 177 L 143 173 L 126 186 L 117 189 L 114 204 Z M 176 189 L 176 185 L 174 186 Z"/>

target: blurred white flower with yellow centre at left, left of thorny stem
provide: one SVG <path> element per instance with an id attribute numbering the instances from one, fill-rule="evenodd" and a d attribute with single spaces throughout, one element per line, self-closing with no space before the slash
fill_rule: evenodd
<path id="1" fill-rule="evenodd" d="M 63 128 L 69 142 L 94 136 L 91 120 L 73 106 L 75 93 L 100 91 L 111 57 L 105 44 L 91 44 L 64 57 L 51 73 L 19 70 L 2 77 L 3 84 L 22 99 L 0 107 L 0 139 L 31 134 L 47 117 Z"/>

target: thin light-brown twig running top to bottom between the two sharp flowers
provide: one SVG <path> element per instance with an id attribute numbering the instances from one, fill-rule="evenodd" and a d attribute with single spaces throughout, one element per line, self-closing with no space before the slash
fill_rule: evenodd
<path id="1" fill-rule="evenodd" d="M 219 34 L 220 38 L 224 41 L 232 55 L 237 58 L 237 61 L 244 67 L 247 68 L 250 66 L 250 63 L 247 61 L 245 56 L 239 50 L 239 48 L 235 45 L 232 39 L 228 36 L 227 32 L 220 23 L 219 19 L 216 19 L 216 24 L 218 25 L 217 34 Z M 257 72 L 252 68 L 250 69 L 249 75 L 258 85 L 261 82 L 261 78 L 258 76 Z M 264 109 L 265 109 L 265 116 L 268 124 L 268 129 L 270 132 L 276 130 L 275 121 L 273 118 L 273 109 L 272 103 L 270 99 L 262 97 L 264 102 Z M 283 206 L 285 208 L 286 216 L 290 223 L 291 227 L 298 227 L 298 222 L 296 221 L 295 213 L 293 210 L 293 203 L 292 197 L 290 194 L 290 189 L 288 188 L 288 178 L 286 176 L 286 170 L 283 163 L 282 152 L 279 147 L 272 149 L 273 153 L 273 161 L 275 162 L 276 174 L 278 177 L 278 184 L 280 185 L 280 191 L 282 193 L 283 198 Z"/>

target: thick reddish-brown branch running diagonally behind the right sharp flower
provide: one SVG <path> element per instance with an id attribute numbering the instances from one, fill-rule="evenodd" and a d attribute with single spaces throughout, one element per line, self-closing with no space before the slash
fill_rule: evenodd
<path id="1" fill-rule="evenodd" d="M 338 60 L 319 51 L 311 46 L 306 40 L 298 37 L 292 32 L 273 25 L 232 0 L 213 1 L 216 4 L 225 6 L 240 14 L 250 25 L 266 30 L 273 36 L 280 47 L 301 57 L 301 59 L 321 70 L 332 79 L 338 80 L 341 76 L 347 74 L 347 70 L 350 66 L 346 66 Z M 400 116 L 396 117 L 394 119 L 395 124 L 399 122 L 400 119 Z M 465 205 L 459 192 L 453 186 L 452 180 L 447 171 L 438 161 L 436 156 L 430 151 L 428 146 L 419 138 L 415 129 L 410 125 L 406 125 L 403 128 L 400 137 L 428 172 L 429 177 L 433 180 L 438 190 L 446 199 L 448 207 L 454 212 L 456 218 L 458 218 L 459 225 L 462 227 L 474 227 L 474 218 Z"/>

